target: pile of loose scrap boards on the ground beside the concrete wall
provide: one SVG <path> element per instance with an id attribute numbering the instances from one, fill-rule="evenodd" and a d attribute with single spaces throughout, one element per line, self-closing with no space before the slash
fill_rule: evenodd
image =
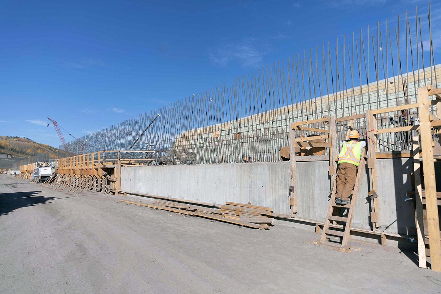
<path id="1" fill-rule="evenodd" d="M 251 205 L 251 203 L 226 202 L 224 205 L 219 205 L 218 208 L 207 208 L 162 199 L 155 199 L 153 204 L 125 200 L 120 200 L 120 202 L 172 211 L 178 214 L 200 216 L 211 220 L 234 223 L 243 227 L 261 230 L 269 229 L 270 224 L 274 221 L 274 219 L 271 218 L 273 208 Z"/>

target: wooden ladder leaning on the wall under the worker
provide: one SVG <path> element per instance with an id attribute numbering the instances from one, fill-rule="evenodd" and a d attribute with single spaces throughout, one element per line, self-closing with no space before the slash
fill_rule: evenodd
<path id="1" fill-rule="evenodd" d="M 351 232 L 351 222 L 352 216 L 354 215 L 355 204 L 357 203 L 357 196 L 359 193 L 360 183 L 362 180 L 363 172 L 365 171 L 366 161 L 365 157 L 365 149 L 363 149 L 363 155 L 360 159 L 360 164 L 357 170 L 357 177 L 355 179 L 354 190 L 352 191 L 351 204 L 339 205 L 335 203 L 335 193 L 336 193 L 336 185 L 337 180 L 334 180 L 333 189 L 331 193 L 331 199 L 329 199 L 328 212 L 326 212 L 325 224 L 323 225 L 323 231 L 321 232 L 320 243 L 325 244 L 327 242 L 327 238 L 340 238 L 340 247 L 344 247 L 348 245 L 350 232 Z M 348 213 L 346 216 L 335 216 L 333 215 L 334 210 L 339 208 L 347 208 Z M 344 231 L 334 230 L 330 227 L 331 220 L 344 222 L 343 229 Z M 327 242 L 329 244 L 329 242 Z"/>

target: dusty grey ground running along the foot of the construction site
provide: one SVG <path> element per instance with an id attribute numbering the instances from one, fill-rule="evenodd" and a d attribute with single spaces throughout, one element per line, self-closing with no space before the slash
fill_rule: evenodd
<path id="1" fill-rule="evenodd" d="M 355 243 L 341 253 L 289 225 L 238 228 L 118 199 L 0 175 L 0 293 L 441 291 L 441 273 L 409 251 Z"/>

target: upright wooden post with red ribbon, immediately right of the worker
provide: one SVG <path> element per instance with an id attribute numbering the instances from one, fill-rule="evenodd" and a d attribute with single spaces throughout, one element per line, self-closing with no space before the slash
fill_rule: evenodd
<path id="1" fill-rule="evenodd" d="M 376 130 L 377 129 L 377 119 L 375 119 L 372 110 L 368 110 L 366 112 L 367 119 L 367 131 Z M 367 133 L 367 146 L 369 149 L 369 159 L 368 159 L 368 168 L 370 170 L 370 182 L 372 186 L 372 190 L 374 190 L 378 194 L 377 187 L 377 135 L 374 132 Z M 380 203 L 378 197 L 375 197 L 371 200 L 371 208 L 370 212 L 370 221 L 372 223 L 372 231 L 377 231 L 378 227 L 381 227 L 380 223 Z"/>

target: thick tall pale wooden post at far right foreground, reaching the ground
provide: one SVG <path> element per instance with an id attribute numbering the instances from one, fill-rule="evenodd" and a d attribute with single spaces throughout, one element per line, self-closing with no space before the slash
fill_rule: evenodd
<path id="1" fill-rule="evenodd" d="M 418 111 L 421 134 L 422 167 L 426 191 L 427 226 L 429 232 L 430 263 L 432 270 L 441 272 L 441 241 L 435 185 L 434 150 L 430 126 L 429 93 L 427 87 L 418 88 Z"/>

